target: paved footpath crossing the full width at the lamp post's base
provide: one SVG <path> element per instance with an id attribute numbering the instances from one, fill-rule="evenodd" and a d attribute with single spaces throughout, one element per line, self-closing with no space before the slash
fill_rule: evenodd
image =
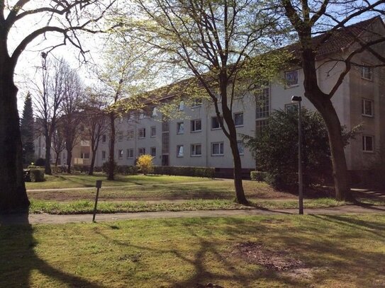
<path id="1" fill-rule="evenodd" d="M 385 206 L 362 207 L 346 205 L 330 208 L 305 209 L 305 214 L 385 214 Z M 157 218 L 187 218 L 187 217 L 233 217 L 252 215 L 279 215 L 298 214 L 298 209 L 235 209 L 235 210 L 199 210 L 181 212 L 138 212 L 138 213 L 115 213 L 97 214 L 96 221 L 118 221 L 123 219 L 157 219 Z M 91 214 L 79 215 L 51 215 L 51 214 L 29 214 L 26 216 L 2 217 L 3 224 L 65 224 L 91 222 Z"/>

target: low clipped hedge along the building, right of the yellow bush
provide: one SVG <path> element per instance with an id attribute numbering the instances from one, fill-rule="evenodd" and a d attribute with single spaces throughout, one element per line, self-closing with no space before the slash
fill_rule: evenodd
<path id="1" fill-rule="evenodd" d="M 191 177 L 215 178 L 216 169 L 212 167 L 188 166 L 153 166 L 152 171 L 158 175 L 176 175 Z"/>

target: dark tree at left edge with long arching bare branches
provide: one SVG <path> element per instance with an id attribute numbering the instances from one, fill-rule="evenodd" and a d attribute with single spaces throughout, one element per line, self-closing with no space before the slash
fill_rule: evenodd
<path id="1" fill-rule="evenodd" d="M 11 2 L 11 3 L 10 3 Z M 82 50 L 77 32 L 100 31 L 96 23 L 105 15 L 115 0 L 0 0 L 0 212 L 25 211 L 29 207 L 26 185 L 23 180 L 23 156 L 17 109 L 17 92 L 13 74 L 18 59 L 26 47 L 42 36 L 51 33 L 63 36 L 63 42 Z M 29 5 L 28 5 L 29 4 Z M 36 25 L 30 25 L 38 18 Z M 24 22 L 28 34 L 20 42 L 10 43 L 16 26 Z M 22 25 L 22 24 L 21 24 Z M 12 47 L 15 47 L 12 49 Z M 55 46 L 48 48 L 52 50 Z M 49 172 L 49 171 L 48 171 Z"/>

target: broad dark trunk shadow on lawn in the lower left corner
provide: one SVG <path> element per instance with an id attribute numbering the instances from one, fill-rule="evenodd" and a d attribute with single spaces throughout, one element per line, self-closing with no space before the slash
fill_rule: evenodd
<path id="1" fill-rule="evenodd" d="M 0 287 L 30 287 L 33 270 L 69 287 L 102 287 L 52 267 L 35 253 L 37 244 L 28 214 L 0 215 Z"/>

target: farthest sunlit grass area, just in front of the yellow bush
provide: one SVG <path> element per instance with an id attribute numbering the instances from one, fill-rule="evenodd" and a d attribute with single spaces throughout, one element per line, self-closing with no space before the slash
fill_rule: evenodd
<path id="1" fill-rule="evenodd" d="M 122 186 L 122 185 L 148 185 L 164 183 L 182 183 L 182 182 L 201 182 L 210 181 L 209 178 L 197 178 L 186 176 L 168 176 L 168 175 L 116 175 L 116 180 L 106 179 L 105 174 L 99 175 L 45 175 L 45 182 L 26 183 L 29 189 L 60 189 L 60 188 L 82 188 L 95 187 L 96 180 L 103 180 L 104 186 Z"/>

